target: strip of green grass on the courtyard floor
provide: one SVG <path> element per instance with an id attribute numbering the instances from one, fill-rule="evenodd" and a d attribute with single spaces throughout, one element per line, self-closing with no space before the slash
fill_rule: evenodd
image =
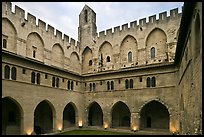
<path id="1" fill-rule="evenodd" d="M 102 131 L 102 130 L 71 130 L 59 135 L 134 135 L 133 133 Z"/>

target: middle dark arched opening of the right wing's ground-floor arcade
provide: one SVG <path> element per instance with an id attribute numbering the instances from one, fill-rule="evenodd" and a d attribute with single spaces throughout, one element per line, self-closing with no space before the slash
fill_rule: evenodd
<path id="1" fill-rule="evenodd" d="M 112 127 L 130 127 L 130 110 L 128 106 L 121 101 L 117 102 L 112 108 Z"/>

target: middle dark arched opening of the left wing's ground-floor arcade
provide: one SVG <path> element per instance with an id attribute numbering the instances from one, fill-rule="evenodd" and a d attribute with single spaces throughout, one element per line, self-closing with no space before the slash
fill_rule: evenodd
<path id="1" fill-rule="evenodd" d="M 53 106 L 48 101 L 40 102 L 34 111 L 34 131 L 36 134 L 53 132 Z"/>

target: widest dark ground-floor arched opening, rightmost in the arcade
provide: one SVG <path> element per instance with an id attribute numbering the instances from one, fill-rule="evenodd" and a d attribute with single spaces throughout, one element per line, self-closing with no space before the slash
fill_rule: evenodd
<path id="1" fill-rule="evenodd" d="M 169 112 L 158 101 L 150 101 L 140 112 L 140 128 L 169 129 Z"/>

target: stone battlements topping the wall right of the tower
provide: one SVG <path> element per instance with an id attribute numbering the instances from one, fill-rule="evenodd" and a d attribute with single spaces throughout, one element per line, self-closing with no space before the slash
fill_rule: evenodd
<path id="1" fill-rule="evenodd" d="M 151 15 L 148 17 L 148 19 L 149 19 L 148 22 L 147 22 L 147 18 L 142 18 L 142 19 L 139 19 L 139 24 L 136 20 L 136 21 L 132 21 L 130 23 L 122 24 L 121 26 L 114 27 L 113 29 L 110 28 L 110 29 L 107 29 L 104 31 L 100 31 L 98 33 L 99 34 L 98 39 L 113 36 L 113 35 L 122 33 L 124 31 L 131 31 L 133 28 L 137 30 L 137 28 L 139 28 L 139 27 L 143 27 L 143 26 L 149 27 L 149 26 L 153 26 L 153 25 L 158 24 L 158 23 L 167 22 L 169 20 L 174 20 L 180 15 L 181 15 L 181 13 L 178 13 L 178 8 L 170 10 L 170 16 L 167 16 L 167 11 L 161 12 L 161 13 L 159 13 L 159 19 L 156 19 L 156 15 Z"/>

